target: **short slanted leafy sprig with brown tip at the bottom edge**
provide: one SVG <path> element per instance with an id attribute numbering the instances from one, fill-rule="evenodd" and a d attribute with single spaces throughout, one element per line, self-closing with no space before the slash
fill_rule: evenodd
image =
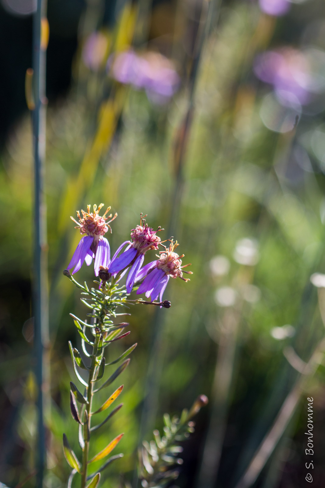
<path id="1" fill-rule="evenodd" d="M 170 415 L 165 413 L 164 435 L 161 437 L 159 430 L 154 430 L 154 440 L 150 443 L 143 442 L 143 446 L 138 451 L 138 476 L 144 488 L 166 487 L 178 477 L 177 465 L 183 464 L 183 460 L 178 457 L 183 447 L 178 443 L 188 439 L 194 432 L 195 424 L 191 418 L 207 403 L 208 398 L 200 395 L 190 411 L 184 408 L 180 417 L 174 416 L 171 419 Z"/>

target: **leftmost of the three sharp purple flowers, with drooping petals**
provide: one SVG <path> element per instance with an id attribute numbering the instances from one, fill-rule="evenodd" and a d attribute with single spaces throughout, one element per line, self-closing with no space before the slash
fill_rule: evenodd
<path id="1" fill-rule="evenodd" d="M 112 218 L 112 214 L 108 215 L 111 207 L 108 207 L 104 215 L 100 216 L 99 211 L 104 206 L 101 203 L 98 206 L 94 205 L 94 212 L 90 211 L 90 205 L 87 206 L 87 212 L 81 210 L 81 215 L 77 211 L 79 222 L 73 217 L 71 219 L 77 224 L 76 229 L 80 229 L 80 234 L 86 234 L 81 238 L 76 250 L 72 256 L 72 259 L 67 266 L 67 269 L 74 267 L 72 274 L 79 271 L 83 262 L 85 261 L 87 266 L 92 264 L 93 258 L 95 258 L 95 275 L 98 276 L 99 267 L 107 267 L 110 264 L 110 245 L 108 240 L 103 237 L 108 229 L 111 230 L 110 223 L 116 218 L 117 214 Z M 106 222 L 110 218 L 111 220 Z"/>

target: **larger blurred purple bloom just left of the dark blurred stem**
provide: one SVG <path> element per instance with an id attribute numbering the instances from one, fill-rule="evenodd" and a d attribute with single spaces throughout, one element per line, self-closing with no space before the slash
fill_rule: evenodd
<path id="1" fill-rule="evenodd" d="M 111 57 L 107 64 L 109 73 L 120 83 L 145 89 L 154 103 L 167 102 L 179 86 L 172 61 L 159 53 L 136 54 L 133 50 Z"/>

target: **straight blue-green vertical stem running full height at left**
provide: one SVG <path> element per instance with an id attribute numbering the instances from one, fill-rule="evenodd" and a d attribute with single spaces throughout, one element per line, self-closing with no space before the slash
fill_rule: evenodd
<path id="1" fill-rule="evenodd" d="M 38 385 L 38 439 L 37 439 L 37 486 L 43 486 L 45 463 L 44 426 L 44 346 L 48 345 L 48 282 L 47 282 L 47 240 L 46 208 L 44 198 L 45 160 L 45 50 L 42 41 L 42 19 L 45 18 L 46 1 L 37 1 L 33 20 L 33 69 L 34 97 L 33 142 L 34 142 L 34 184 L 35 184 L 35 229 L 34 229 L 34 344 L 36 355 L 36 379 Z M 44 24 L 44 21 L 43 21 Z M 46 350 L 46 349 L 45 349 Z"/>

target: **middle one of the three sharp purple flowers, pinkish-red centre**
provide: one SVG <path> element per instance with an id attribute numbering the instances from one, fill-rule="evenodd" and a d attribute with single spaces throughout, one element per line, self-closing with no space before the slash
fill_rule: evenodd
<path id="1" fill-rule="evenodd" d="M 137 225 L 135 229 L 131 231 L 131 241 L 125 241 L 119 246 L 115 255 L 112 258 L 108 271 L 111 274 L 118 273 L 122 269 L 132 264 L 126 280 L 126 289 L 130 293 L 134 285 L 136 275 L 143 264 L 144 255 L 149 249 L 158 249 L 160 238 L 156 235 L 156 232 L 161 230 L 158 227 L 157 230 L 153 230 L 148 224 L 145 224 L 142 214 L 140 217 L 140 225 Z M 129 244 L 124 252 L 120 256 L 118 253 L 121 251 L 125 244 Z"/>

